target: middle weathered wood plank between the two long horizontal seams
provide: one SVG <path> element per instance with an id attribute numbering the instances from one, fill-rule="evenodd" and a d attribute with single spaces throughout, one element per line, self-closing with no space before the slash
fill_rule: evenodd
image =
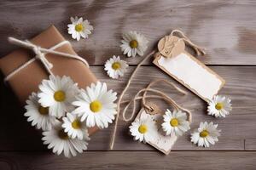
<path id="1" fill-rule="evenodd" d="M 198 148 L 189 142 L 189 133 L 177 140 L 173 150 L 244 150 L 244 139 L 252 139 L 255 136 L 255 111 L 256 111 L 256 67 L 253 66 L 212 66 L 220 76 L 224 77 L 227 84 L 220 91 L 220 94 L 228 95 L 232 99 L 233 111 L 230 116 L 225 119 L 216 119 L 207 116 L 206 103 L 199 99 L 195 94 L 189 93 L 188 96 L 179 96 L 171 88 L 166 89 L 166 93 L 177 100 L 177 103 L 188 108 L 193 114 L 192 129 L 199 125 L 199 122 L 208 121 L 218 123 L 222 129 L 222 136 L 219 138 L 218 144 L 209 149 Z M 91 70 L 96 74 L 102 82 L 107 82 L 109 88 L 113 88 L 117 92 L 124 88 L 127 78 L 131 75 L 133 66 L 129 67 L 125 77 L 119 80 L 108 78 L 103 71 L 102 66 L 92 66 Z M 148 74 L 145 74 L 147 72 Z M 146 84 L 157 78 L 166 78 L 172 80 L 165 73 L 154 66 L 143 66 L 131 84 L 131 88 L 126 94 L 126 99 L 131 97 Z M 1 120 L 0 120 L 0 150 L 45 150 L 41 142 L 41 134 L 30 127 L 26 122 L 26 118 L 22 116 L 22 110 L 17 106 L 13 94 L 3 87 L 1 88 Z M 164 86 L 159 86 L 160 88 Z M 163 108 L 166 107 L 160 102 Z M 154 150 L 146 144 L 137 144 L 132 141 L 128 132 L 129 122 L 119 122 L 119 130 L 117 133 L 116 144 L 114 150 Z M 96 133 L 90 141 L 90 150 L 108 150 L 108 143 L 113 126 Z M 254 149 L 253 149 L 254 150 Z"/>

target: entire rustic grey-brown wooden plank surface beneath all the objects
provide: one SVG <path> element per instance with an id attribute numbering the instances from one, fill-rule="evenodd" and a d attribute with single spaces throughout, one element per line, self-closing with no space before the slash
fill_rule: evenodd
<path id="1" fill-rule="evenodd" d="M 0 169 L 255 169 L 255 8 L 253 0 L 208 0 L 203 3 L 200 0 L 1 1 L 1 56 L 15 48 L 7 43 L 8 36 L 29 38 L 53 24 L 89 61 L 96 77 L 119 93 L 135 65 L 143 59 L 127 59 L 122 55 L 119 48 L 122 32 L 141 31 L 148 37 L 149 52 L 160 37 L 180 28 L 194 42 L 207 48 L 208 54 L 198 59 L 224 77 L 227 83 L 220 94 L 230 96 L 234 109 L 227 118 L 216 119 L 207 116 L 207 105 L 195 94 L 183 97 L 167 89 L 167 94 L 192 111 L 192 129 L 202 121 L 218 123 L 222 136 L 217 144 L 207 149 L 195 147 L 189 142 L 187 133 L 177 140 L 169 156 L 163 156 L 146 144 L 134 142 L 128 134 L 129 123 L 119 122 L 113 151 L 107 151 L 113 130 L 110 126 L 92 137 L 89 151 L 67 159 L 46 150 L 41 133 L 26 122 L 22 115 L 24 111 L 1 81 Z M 69 17 L 75 15 L 90 20 L 95 27 L 89 39 L 76 42 L 67 35 Z M 103 71 L 102 65 L 113 54 L 120 55 L 132 65 L 119 80 L 108 78 Z M 156 78 L 175 82 L 151 61 L 149 59 L 138 71 L 126 99 L 131 99 L 137 90 Z"/>

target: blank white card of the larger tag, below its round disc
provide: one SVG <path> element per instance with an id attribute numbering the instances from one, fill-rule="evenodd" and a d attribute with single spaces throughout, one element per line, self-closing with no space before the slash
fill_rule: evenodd
<path id="1" fill-rule="evenodd" d="M 157 62 L 172 77 L 192 89 L 202 99 L 212 99 L 224 85 L 223 79 L 188 54 L 182 53 L 172 58 L 160 56 Z"/>

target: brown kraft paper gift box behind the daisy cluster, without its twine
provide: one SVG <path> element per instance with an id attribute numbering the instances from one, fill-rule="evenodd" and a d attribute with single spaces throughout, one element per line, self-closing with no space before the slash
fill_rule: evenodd
<path id="1" fill-rule="evenodd" d="M 61 36 L 61 33 L 55 26 L 49 26 L 48 29 L 30 40 L 30 42 L 42 48 L 51 48 L 63 41 L 65 41 L 65 38 Z M 76 54 L 69 43 L 56 48 L 55 51 Z M 20 65 L 23 65 L 33 57 L 35 57 L 35 54 L 32 50 L 19 48 L 0 59 L 0 69 L 4 76 L 8 76 L 10 72 L 15 71 Z M 45 58 L 53 65 L 51 71 L 55 75 L 71 77 L 74 82 L 78 82 L 79 88 L 85 88 L 86 86 L 90 86 L 91 82 L 97 81 L 88 66 L 84 65 L 79 59 L 70 59 L 55 54 L 46 54 Z M 17 72 L 13 77 L 10 77 L 8 84 L 16 97 L 20 100 L 20 104 L 25 105 L 28 96 L 32 94 L 32 92 L 38 92 L 38 85 L 43 79 L 48 78 L 48 72 L 45 70 L 42 63 L 36 59 L 30 65 L 27 65 L 21 71 Z M 94 133 L 96 129 L 97 127 L 90 128 L 89 133 Z"/>

